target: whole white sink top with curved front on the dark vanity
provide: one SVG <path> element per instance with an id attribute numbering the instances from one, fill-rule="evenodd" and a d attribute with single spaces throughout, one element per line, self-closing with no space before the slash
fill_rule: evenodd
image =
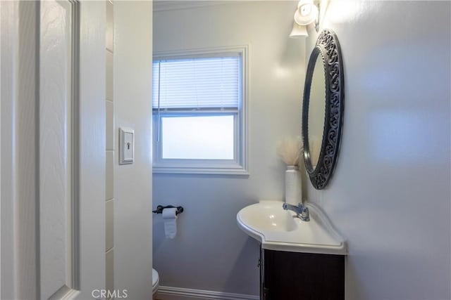
<path id="1" fill-rule="evenodd" d="M 314 204 L 306 204 L 310 221 L 285 211 L 280 201 L 261 201 L 244 207 L 237 214 L 238 226 L 261 242 L 263 249 L 347 254 L 346 243 L 333 228 L 326 214 Z"/>

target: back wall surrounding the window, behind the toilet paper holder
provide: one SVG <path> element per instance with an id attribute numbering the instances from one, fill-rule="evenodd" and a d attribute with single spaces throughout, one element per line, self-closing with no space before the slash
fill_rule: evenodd
<path id="1" fill-rule="evenodd" d="M 289 39 L 295 1 L 242 2 L 154 13 L 154 51 L 249 45 L 249 177 L 154 174 L 154 207 L 182 205 L 166 240 L 154 216 L 160 284 L 259 294 L 259 244 L 237 227 L 242 207 L 283 199 L 276 143 L 300 134 L 304 41 Z"/>

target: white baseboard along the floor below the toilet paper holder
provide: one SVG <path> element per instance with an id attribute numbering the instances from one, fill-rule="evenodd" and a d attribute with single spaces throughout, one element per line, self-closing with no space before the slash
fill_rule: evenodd
<path id="1" fill-rule="evenodd" d="M 160 286 L 156 299 L 159 300 L 259 300 L 259 296 L 226 292 L 185 289 L 182 287 Z"/>

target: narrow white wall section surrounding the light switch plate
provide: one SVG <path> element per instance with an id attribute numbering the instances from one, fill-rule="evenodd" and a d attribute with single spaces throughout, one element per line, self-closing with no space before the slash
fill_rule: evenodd
<path id="1" fill-rule="evenodd" d="M 114 113 L 135 129 L 135 162 L 114 159 L 114 287 L 152 298 L 152 1 L 114 1 Z"/>

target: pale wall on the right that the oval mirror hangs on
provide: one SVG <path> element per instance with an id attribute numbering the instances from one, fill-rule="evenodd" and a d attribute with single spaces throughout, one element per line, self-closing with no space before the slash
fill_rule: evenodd
<path id="1" fill-rule="evenodd" d="M 450 10 L 331 1 L 323 18 L 342 47 L 344 129 L 332 180 L 308 194 L 349 242 L 347 299 L 451 298 Z"/>

